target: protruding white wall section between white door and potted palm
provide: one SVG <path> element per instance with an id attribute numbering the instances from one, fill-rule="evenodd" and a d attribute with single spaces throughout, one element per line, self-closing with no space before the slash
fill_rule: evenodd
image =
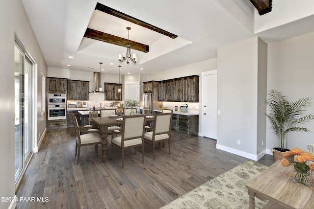
<path id="1" fill-rule="evenodd" d="M 259 78 L 259 70 L 266 70 L 266 65 L 258 65 L 259 53 L 266 56 L 265 49 L 259 51 L 262 43 L 255 37 L 218 49 L 217 148 L 253 160 L 258 155 L 258 130 L 265 132 L 265 126 L 258 126 L 258 90 L 264 87 L 266 92 L 266 77 Z"/>

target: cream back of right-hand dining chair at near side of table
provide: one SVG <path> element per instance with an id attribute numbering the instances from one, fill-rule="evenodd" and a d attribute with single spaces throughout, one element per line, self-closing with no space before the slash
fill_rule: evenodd
<path id="1" fill-rule="evenodd" d="M 172 113 L 155 114 L 153 135 L 170 134 Z"/>

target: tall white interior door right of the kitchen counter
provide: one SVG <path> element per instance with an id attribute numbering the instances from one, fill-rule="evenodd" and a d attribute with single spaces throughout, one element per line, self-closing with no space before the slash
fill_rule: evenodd
<path id="1" fill-rule="evenodd" d="M 217 139 L 217 70 L 202 73 L 203 136 Z"/>

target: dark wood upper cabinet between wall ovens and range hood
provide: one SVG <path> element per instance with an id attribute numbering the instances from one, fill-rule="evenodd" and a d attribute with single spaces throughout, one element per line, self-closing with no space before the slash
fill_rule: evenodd
<path id="1" fill-rule="evenodd" d="M 68 100 L 88 100 L 89 81 L 68 80 Z"/>

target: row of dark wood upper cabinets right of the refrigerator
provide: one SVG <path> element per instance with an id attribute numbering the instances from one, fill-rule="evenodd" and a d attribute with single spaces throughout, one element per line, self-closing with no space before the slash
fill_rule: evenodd
<path id="1" fill-rule="evenodd" d="M 159 81 L 158 101 L 198 102 L 199 76 L 191 75 L 182 78 Z"/>

